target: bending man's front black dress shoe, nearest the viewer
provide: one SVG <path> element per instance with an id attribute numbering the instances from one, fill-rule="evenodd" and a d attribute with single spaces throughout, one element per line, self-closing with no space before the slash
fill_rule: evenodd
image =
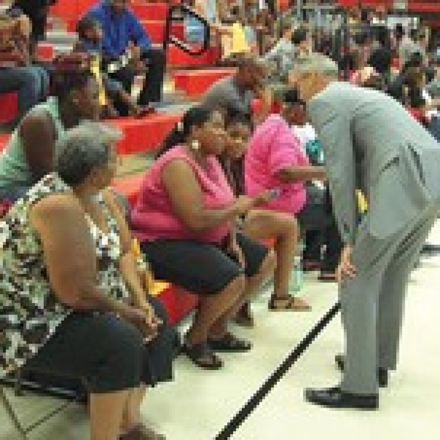
<path id="1" fill-rule="evenodd" d="M 308 402 L 328 408 L 354 408 L 362 410 L 375 410 L 379 407 L 377 394 L 358 395 L 346 393 L 340 387 L 326 390 L 313 390 L 307 388 L 305 398 Z"/>

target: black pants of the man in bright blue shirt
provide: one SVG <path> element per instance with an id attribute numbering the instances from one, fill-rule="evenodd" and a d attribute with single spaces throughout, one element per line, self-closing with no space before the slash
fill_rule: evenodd
<path id="1" fill-rule="evenodd" d="M 139 104 L 147 105 L 151 102 L 159 102 L 162 98 L 163 78 L 165 75 L 165 54 L 162 49 L 150 48 L 142 51 L 142 60 L 148 67 L 145 87 L 139 96 Z M 130 67 L 123 67 L 109 75 L 119 81 L 124 89 L 130 93 L 135 72 Z M 121 102 L 115 102 L 116 110 L 122 115 L 128 113 L 128 108 Z"/>

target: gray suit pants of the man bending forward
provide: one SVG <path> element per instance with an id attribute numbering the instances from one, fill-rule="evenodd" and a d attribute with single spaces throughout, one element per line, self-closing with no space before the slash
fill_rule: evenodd
<path id="1" fill-rule="evenodd" d="M 343 391 L 375 394 L 376 368 L 396 369 L 406 286 L 438 212 L 439 204 L 425 209 L 383 240 L 368 231 L 368 217 L 359 226 L 352 252 L 357 275 L 340 287 L 346 334 Z"/>

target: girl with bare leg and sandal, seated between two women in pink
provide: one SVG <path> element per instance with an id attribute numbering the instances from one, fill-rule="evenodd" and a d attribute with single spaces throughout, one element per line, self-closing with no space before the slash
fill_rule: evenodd
<path id="1" fill-rule="evenodd" d="M 227 117 L 226 149 L 221 164 L 235 195 L 244 194 L 243 156 L 251 135 L 246 118 L 239 114 Z M 254 240 L 274 239 L 277 265 L 274 289 L 269 303 L 271 310 L 308 310 L 308 304 L 299 297 L 289 296 L 289 279 L 298 242 L 298 224 L 294 216 L 284 212 L 252 209 L 240 225 L 242 231 Z M 289 299 L 289 307 L 286 306 Z M 283 306 L 283 307 L 280 307 Z M 237 322 L 252 326 L 252 314 L 247 303 L 239 312 Z"/>

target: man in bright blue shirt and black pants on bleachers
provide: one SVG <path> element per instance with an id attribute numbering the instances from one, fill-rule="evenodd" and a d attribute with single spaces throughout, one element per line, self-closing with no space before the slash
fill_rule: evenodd
<path id="1" fill-rule="evenodd" d="M 152 46 L 150 37 L 142 23 L 128 6 L 128 0 L 102 0 L 86 14 L 97 20 L 103 30 L 103 55 L 116 60 L 134 44 L 132 56 L 135 62 L 142 61 L 147 67 L 146 86 L 139 97 L 140 105 L 158 102 L 161 98 L 165 55 Z M 126 66 L 111 74 L 130 92 L 136 72 Z"/>

